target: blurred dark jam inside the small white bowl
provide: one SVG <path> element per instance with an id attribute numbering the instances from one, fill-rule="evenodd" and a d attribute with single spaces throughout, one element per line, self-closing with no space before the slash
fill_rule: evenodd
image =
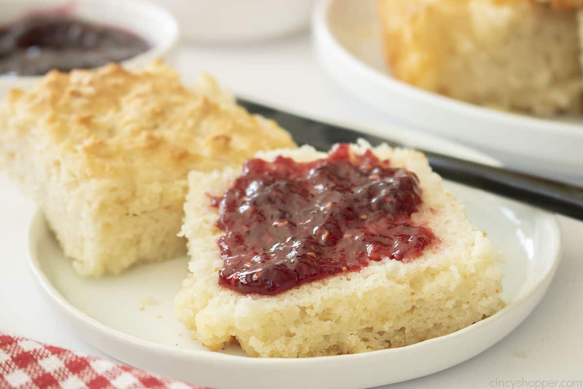
<path id="1" fill-rule="evenodd" d="M 69 16 L 39 13 L 0 26 L 0 75 L 95 68 L 148 50 L 135 34 Z"/>

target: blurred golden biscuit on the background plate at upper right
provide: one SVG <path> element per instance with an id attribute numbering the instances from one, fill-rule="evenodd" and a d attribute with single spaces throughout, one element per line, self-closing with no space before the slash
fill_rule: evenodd
<path id="1" fill-rule="evenodd" d="M 578 113 L 577 12 L 564 8 L 579 1 L 550 2 L 379 0 L 392 74 L 410 85 L 500 110 Z"/>

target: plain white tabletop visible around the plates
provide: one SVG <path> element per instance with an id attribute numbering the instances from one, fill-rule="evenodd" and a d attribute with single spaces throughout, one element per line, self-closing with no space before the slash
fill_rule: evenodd
<path id="1" fill-rule="evenodd" d="M 178 67 L 185 80 L 211 71 L 235 92 L 316 117 L 359 125 L 394 124 L 327 78 L 312 56 L 307 34 L 242 46 L 184 45 Z M 107 358 L 72 334 L 45 304 L 27 265 L 27 223 L 33 211 L 34 205 L 0 176 L 0 330 Z M 461 365 L 391 388 L 512 387 L 510 381 L 522 380 L 522 387 L 535 387 L 534 380 L 558 380 L 554 387 L 583 387 L 583 223 L 560 217 L 560 225 L 560 267 L 525 323 Z M 562 380 L 579 382 L 577 386 Z"/>

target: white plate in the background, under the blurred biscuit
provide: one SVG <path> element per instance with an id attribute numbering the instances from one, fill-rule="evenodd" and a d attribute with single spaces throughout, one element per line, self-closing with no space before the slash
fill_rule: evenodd
<path id="1" fill-rule="evenodd" d="M 376 0 L 321 0 L 314 47 L 324 69 L 347 90 L 412 128 L 446 135 L 512 166 L 583 184 L 583 117 L 540 119 L 449 99 L 391 76 Z"/>

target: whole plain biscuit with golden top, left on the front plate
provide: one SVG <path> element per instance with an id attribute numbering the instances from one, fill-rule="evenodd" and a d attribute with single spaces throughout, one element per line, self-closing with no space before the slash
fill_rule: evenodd
<path id="1" fill-rule="evenodd" d="M 161 62 L 51 71 L 0 105 L 0 167 L 43 209 L 75 269 L 119 273 L 186 251 L 177 237 L 188 171 L 293 147 L 215 80 L 194 89 Z"/>

